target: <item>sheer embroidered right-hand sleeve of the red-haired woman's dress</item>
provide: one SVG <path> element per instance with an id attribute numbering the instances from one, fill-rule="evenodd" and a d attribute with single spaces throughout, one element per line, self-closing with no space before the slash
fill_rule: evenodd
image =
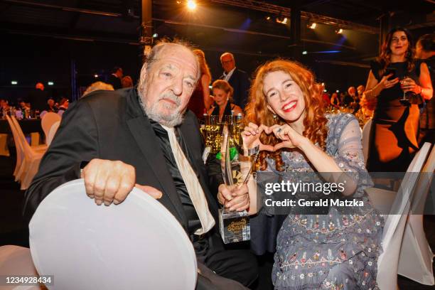
<path id="1" fill-rule="evenodd" d="M 343 122 L 344 128 L 336 130 L 340 136 L 333 159 L 356 182 L 353 196 L 359 197 L 364 195 L 365 188 L 372 186 L 372 181 L 365 168 L 360 125 L 352 115 L 346 115 Z"/>

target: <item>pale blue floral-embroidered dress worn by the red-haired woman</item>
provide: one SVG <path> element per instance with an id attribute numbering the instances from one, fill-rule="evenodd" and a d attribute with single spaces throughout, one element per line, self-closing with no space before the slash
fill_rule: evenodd
<path id="1" fill-rule="evenodd" d="M 275 289 L 378 289 L 377 257 L 382 248 L 382 215 L 372 208 L 364 188 L 372 185 L 365 169 L 358 121 L 352 114 L 327 115 L 326 153 L 358 181 L 352 198 L 365 206 L 356 213 L 330 207 L 328 215 L 290 214 L 276 240 L 272 270 Z M 299 151 L 285 151 L 286 171 L 267 171 L 283 180 L 291 172 L 314 172 Z M 299 197 L 300 198 L 300 197 Z"/>

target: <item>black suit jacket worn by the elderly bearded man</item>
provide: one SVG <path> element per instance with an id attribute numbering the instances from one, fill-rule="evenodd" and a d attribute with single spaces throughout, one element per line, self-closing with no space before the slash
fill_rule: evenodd
<path id="1" fill-rule="evenodd" d="M 210 212 L 218 222 L 218 203 L 210 193 L 222 181 L 220 164 L 203 163 L 203 139 L 193 112 L 178 127 L 193 160 Z M 61 184 L 80 178 L 80 163 L 91 159 L 120 160 L 136 168 L 136 183 L 163 193 L 161 202 L 187 230 L 188 221 L 159 143 L 140 107 L 135 88 L 96 91 L 75 102 L 63 114 L 60 127 L 28 188 L 23 214 L 30 220 L 39 203 Z"/>

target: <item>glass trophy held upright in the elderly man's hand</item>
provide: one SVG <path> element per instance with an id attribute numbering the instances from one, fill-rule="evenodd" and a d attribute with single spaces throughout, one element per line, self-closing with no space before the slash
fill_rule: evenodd
<path id="1" fill-rule="evenodd" d="M 241 124 L 230 122 L 223 125 L 220 147 L 222 176 L 225 185 L 237 188 L 247 183 L 258 154 L 242 154 Z M 249 215 L 229 211 L 224 206 L 219 210 L 220 235 L 225 244 L 250 240 Z"/>

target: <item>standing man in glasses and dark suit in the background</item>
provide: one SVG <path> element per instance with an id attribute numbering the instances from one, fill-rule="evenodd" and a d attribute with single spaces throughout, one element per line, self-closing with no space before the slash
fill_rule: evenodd
<path id="1" fill-rule="evenodd" d="M 220 80 L 226 80 L 234 89 L 232 98 L 237 106 L 245 109 L 247 98 L 249 94 L 249 77 L 243 70 L 239 70 L 235 66 L 235 58 L 232 53 L 222 53 L 220 55 L 220 63 L 224 69 L 223 75 Z"/>

